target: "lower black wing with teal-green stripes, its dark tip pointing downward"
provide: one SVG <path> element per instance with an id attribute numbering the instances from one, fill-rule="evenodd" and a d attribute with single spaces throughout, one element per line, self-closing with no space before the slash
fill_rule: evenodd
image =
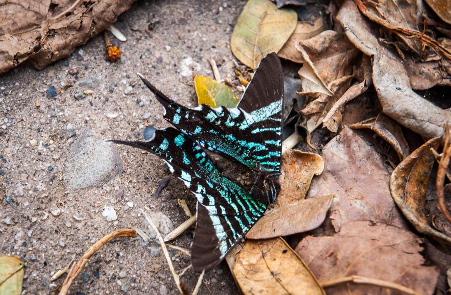
<path id="1" fill-rule="evenodd" d="M 156 130 L 148 142 L 113 142 L 162 158 L 197 198 L 197 222 L 191 247 L 195 271 L 215 267 L 263 215 L 267 205 L 224 177 L 202 148 L 174 128 Z"/>

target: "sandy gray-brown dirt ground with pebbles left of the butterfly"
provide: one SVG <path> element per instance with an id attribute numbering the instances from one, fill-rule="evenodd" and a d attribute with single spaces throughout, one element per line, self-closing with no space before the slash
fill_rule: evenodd
<path id="1" fill-rule="evenodd" d="M 192 58 L 200 65 L 196 74 L 212 77 L 208 59 L 214 58 L 221 75 L 232 75 L 230 36 L 244 4 L 138 1 L 115 24 L 128 39 L 120 44 L 120 61 L 106 60 L 104 38 L 97 36 L 43 71 L 23 65 L 0 77 L 0 254 L 27 262 L 23 294 L 50 293 L 65 277 L 51 281 L 54 272 L 105 234 L 145 229 L 142 208 L 162 212 L 173 226 L 187 218 L 177 198 L 194 212 L 193 197 L 178 180 L 154 198 L 169 175 L 157 157 L 131 148 L 117 153 L 104 141 L 143 140 L 146 125 L 168 126 L 136 72 L 185 105 L 196 99 L 192 78 L 180 76 L 182 60 Z M 102 216 L 105 206 L 114 207 L 117 220 Z M 188 231 L 174 244 L 189 248 L 191 239 Z M 107 244 L 71 293 L 177 294 L 159 246 L 151 243 Z M 177 271 L 189 265 L 186 255 L 170 254 Z M 191 270 L 182 276 L 190 290 L 196 280 Z M 224 262 L 204 282 L 201 294 L 238 293 Z"/>

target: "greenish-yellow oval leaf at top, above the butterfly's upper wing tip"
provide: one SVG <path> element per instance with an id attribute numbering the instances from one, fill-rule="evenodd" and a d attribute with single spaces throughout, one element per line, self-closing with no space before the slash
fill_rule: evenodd
<path id="1" fill-rule="evenodd" d="M 267 54 L 279 52 L 295 30 L 297 20 L 293 10 L 279 10 L 269 0 L 249 0 L 232 33 L 232 53 L 256 69 Z"/>

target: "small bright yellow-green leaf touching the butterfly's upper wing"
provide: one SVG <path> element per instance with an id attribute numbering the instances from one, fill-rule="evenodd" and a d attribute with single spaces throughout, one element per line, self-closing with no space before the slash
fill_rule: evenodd
<path id="1" fill-rule="evenodd" d="M 238 98 L 229 86 L 208 77 L 194 77 L 194 87 L 197 94 L 197 103 L 216 108 L 223 106 L 234 108 Z"/>

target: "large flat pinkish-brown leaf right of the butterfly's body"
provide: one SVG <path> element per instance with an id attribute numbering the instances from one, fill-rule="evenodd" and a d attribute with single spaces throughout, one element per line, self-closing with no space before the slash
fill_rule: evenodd
<path id="1" fill-rule="evenodd" d="M 309 198 L 336 194 L 331 210 L 341 223 L 371 220 L 403 227 L 390 195 L 390 173 L 382 156 L 357 131 L 345 127 L 323 148 L 324 172 L 313 178 Z"/>

